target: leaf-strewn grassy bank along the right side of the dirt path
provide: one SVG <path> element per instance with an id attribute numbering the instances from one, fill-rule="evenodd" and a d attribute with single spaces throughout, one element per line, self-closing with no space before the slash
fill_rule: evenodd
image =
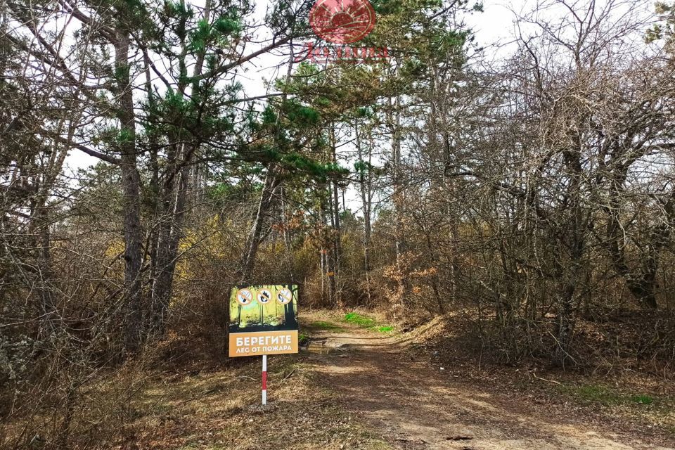
<path id="1" fill-rule="evenodd" d="M 586 335 L 581 338 L 591 345 L 591 327 L 588 322 L 584 326 Z M 592 328 L 600 336 L 592 342 L 596 348 L 605 339 L 603 326 Z M 432 319 L 405 336 L 413 351 L 448 368 L 458 383 L 492 392 L 510 408 L 527 399 L 560 420 L 574 418 L 645 438 L 675 439 L 674 375 L 646 370 L 628 350 L 612 359 L 589 358 L 594 364 L 567 370 L 534 356 L 505 363 L 487 346 L 481 348 L 471 319 L 462 313 Z"/>

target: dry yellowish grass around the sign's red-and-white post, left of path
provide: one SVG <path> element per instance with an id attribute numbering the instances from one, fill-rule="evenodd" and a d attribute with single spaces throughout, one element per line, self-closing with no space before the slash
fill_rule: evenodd
<path id="1" fill-rule="evenodd" d="M 148 386 L 122 449 L 371 449 L 388 447 L 335 405 L 304 356 L 269 357 L 270 403 L 259 406 L 259 361 Z M 288 376 L 291 374 L 291 376 Z"/>

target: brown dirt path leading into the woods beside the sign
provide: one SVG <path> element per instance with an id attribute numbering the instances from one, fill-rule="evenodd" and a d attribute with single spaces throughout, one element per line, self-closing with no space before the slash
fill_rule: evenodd
<path id="1" fill-rule="evenodd" d="M 311 323 L 319 317 L 305 316 Z M 457 383 L 451 368 L 411 358 L 395 338 L 340 323 L 311 330 L 309 359 L 322 387 L 397 449 L 667 449 L 543 417 L 534 406 Z"/>

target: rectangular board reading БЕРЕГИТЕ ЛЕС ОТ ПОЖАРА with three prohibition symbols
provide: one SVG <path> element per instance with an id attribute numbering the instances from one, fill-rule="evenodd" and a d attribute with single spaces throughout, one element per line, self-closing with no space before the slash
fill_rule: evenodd
<path id="1" fill-rule="evenodd" d="M 297 353 L 297 285 L 246 285 L 230 293 L 229 355 Z"/>

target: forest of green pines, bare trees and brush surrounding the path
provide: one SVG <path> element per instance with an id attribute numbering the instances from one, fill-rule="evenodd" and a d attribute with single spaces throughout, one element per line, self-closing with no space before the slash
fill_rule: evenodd
<path id="1" fill-rule="evenodd" d="M 245 283 L 671 383 L 675 4 L 359 1 L 345 47 L 313 0 L 0 0 L 0 448 L 202 448 L 115 424 L 235 364 Z"/>

